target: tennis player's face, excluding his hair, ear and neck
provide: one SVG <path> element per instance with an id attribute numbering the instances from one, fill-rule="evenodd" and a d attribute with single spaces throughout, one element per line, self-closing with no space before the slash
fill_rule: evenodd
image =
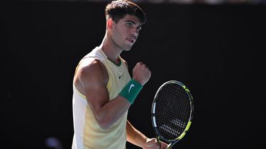
<path id="1" fill-rule="evenodd" d="M 136 16 L 126 15 L 118 23 L 113 22 L 113 42 L 123 50 L 129 51 L 138 38 L 141 29 Z"/>

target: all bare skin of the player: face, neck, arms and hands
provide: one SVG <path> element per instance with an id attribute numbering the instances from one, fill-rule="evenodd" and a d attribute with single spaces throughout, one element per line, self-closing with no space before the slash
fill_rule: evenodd
<path id="1" fill-rule="evenodd" d="M 99 47 L 114 64 L 120 64 L 121 59 L 118 57 L 121 52 L 129 51 L 136 42 L 141 25 L 140 20 L 131 15 L 124 16 L 117 23 L 112 18 L 106 20 L 106 35 Z M 138 62 L 133 68 L 132 78 L 141 85 L 145 85 L 150 76 L 149 68 L 142 62 Z M 99 59 L 84 59 L 74 76 L 74 85 L 87 97 L 88 105 L 102 129 L 109 129 L 131 106 L 120 95 L 110 101 L 106 88 L 108 81 L 109 74 Z M 126 124 L 126 133 L 127 141 L 141 148 L 157 149 L 160 144 L 162 148 L 167 147 L 165 143 L 159 144 L 155 138 L 148 138 L 140 133 L 129 121 Z"/>

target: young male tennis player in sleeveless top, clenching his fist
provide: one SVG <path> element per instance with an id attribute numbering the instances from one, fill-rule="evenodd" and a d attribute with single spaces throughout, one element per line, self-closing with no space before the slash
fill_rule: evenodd
<path id="1" fill-rule="evenodd" d="M 120 54 L 131 49 L 145 22 L 145 13 L 131 1 L 112 1 L 106 6 L 104 40 L 84 56 L 74 74 L 72 149 L 124 149 L 126 141 L 141 148 L 166 148 L 127 120 L 128 108 L 151 72 L 139 62 L 131 79 Z"/>

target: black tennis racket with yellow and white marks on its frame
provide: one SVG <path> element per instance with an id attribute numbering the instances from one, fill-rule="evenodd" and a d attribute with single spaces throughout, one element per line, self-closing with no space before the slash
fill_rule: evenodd
<path id="1" fill-rule="evenodd" d="M 163 83 L 155 94 L 152 107 L 153 129 L 157 141 L 171 148 L 192 124 L 194 104 L 189 89 L 179 81 Z"/>

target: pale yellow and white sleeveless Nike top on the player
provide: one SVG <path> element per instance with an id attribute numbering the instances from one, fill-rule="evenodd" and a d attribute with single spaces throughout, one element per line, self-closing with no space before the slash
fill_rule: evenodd
<path id="1" fill-rule="evenodd" d="M 120 66 L 113 64 L 99 47 L 96 47 L 92 52 L 84 56 L 84 58 L 87 57 L 99 59 L 106 67 L 109 74 L 109 81 L 106 87 L 109 91 L 110 100 L 113 100 L 118 96 L 128 81 L 131 80 L 125 62 L 120 57 Z M 72 149 L 126 148 L 126 120 L 128 112 L 123 114 L 123 116 L 109 129 L 101 129 L 94 118 L 94 114 L 87 103 L 86 97 L 82 95 L 82 93 L 79 93 L 74 84 L 72 108 L 74 121 Z"/>

